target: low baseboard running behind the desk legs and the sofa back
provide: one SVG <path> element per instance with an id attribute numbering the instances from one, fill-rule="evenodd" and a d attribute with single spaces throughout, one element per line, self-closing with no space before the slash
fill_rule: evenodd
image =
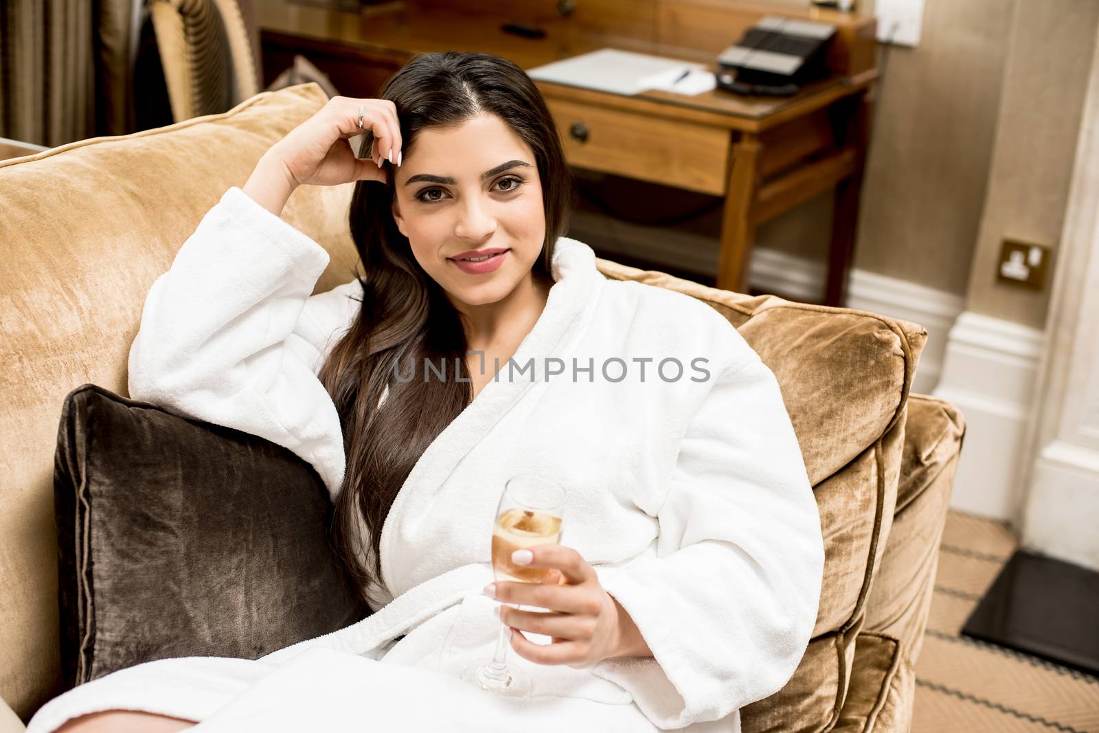
<path id="1" fill-rule="evenodd" d="M 574 234 L 575 232 L 575 234 Z M 718 243 L 710 237 L 667 232 L 592 215 L 573 212 L 570 236 L 586 235 L 600 243 L 630 243 L 622 255 L 688 272 L 712 273 L 718 267 Z M 601 247 L 612 257 L 607 246 Z M 750 279 L 753 287 L 782 293 L 793 300 L 818 301 L 824 294 L 824 264 L 774 249 L 752 251 Z M 946 338 L 954 320 L 965 307 L 965 298 L 954 293 L 934 290 L 913 282 L 852 270 L 847 285 L 847 307 L 869 311 L 890 318 L 911 320 L 928 329 L 928 342 L 912 383 L 912 392 L 931 394 L 939 382 Z"/>

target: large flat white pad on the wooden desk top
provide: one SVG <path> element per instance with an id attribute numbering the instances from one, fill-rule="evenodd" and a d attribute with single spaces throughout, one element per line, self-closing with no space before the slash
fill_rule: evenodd
<path id="1" fill-rule="evenodd" d="M 703 70 L 706 66 L 664 56 L 600 48 L 528 69 L 526 74 L 540 81 L 599 89 L 615 94 L 636 94 L 645 89 L 662 88 L 658 87 L 662 83 L 669 84 L 687 69 Z M 671 91 L 678 89 L 671 88 Z"/>

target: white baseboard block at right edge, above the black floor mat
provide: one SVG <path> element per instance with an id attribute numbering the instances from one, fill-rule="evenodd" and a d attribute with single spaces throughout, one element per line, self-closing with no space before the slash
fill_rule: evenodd
<path id="1" fill-rule="evenodd" d="M 1031 474 L 1023 546 L 1099 571 L 1099 452 L 1054 441 Z"/>

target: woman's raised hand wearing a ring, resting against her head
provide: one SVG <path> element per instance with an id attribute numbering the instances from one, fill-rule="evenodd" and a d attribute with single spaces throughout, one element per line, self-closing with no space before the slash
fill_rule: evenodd
<path id="1" fill-rule="evenodd" d="M 363 127 L 358 110 L 363 108 Z M 374 133 L 369 158 L 356 158 L 348 138 Z M 390 159 L 391 158 L 391 159 Z M 389 161 L 387 163 L 387 160 Z M 243 191 L 278 216 L 301 184 L 340 185 L 386 181 L 401 160 L 401 126 L 389 100 L 333 97 L 259 159 Z"/>

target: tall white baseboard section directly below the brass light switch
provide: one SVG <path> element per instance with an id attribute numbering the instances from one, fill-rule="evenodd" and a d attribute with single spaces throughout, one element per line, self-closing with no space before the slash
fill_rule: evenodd
<path id="1" fill-rule="evenodd" d="M 965 312 L 950 331 L 936 397 L 966 419 L 951 506 L 1019 522 L 1025 436 L 1044 334 Z"/>

